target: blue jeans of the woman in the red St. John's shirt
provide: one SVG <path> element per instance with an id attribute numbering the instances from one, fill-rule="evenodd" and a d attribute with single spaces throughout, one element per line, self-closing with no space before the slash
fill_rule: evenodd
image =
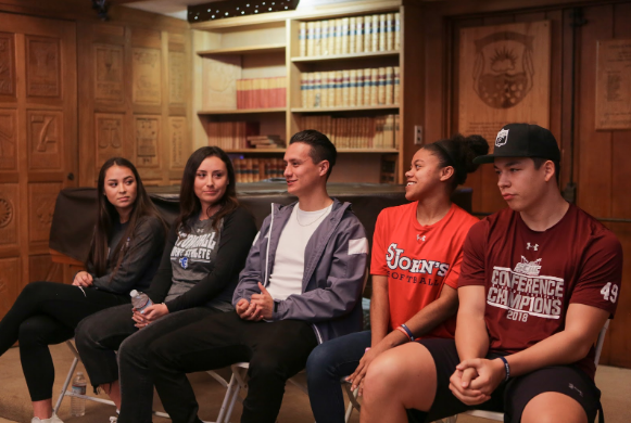
<path id="1" fill-rule="evenodd" d="M 340 380 L 357 369 L 369 346 L 370 331 L 364 331 L 327 341 L 308 356 L 308 398 L 317 423 L 344 422 L 344 395 Z"/>

